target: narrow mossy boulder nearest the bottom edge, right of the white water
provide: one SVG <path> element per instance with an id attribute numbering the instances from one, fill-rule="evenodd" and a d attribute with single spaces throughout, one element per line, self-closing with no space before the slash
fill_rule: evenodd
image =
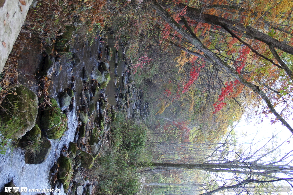
<path id="1" fill-rule="evenodd" d="M 64 188 L 64 192 L 67 193 L 68 187 L 69 187 L 69 182 L 73 176 L 73 163 L 74 159 L 72 158 L 67 158 L 65 156 L 60 156 L 58 159 L 59 163 L 59 179 L 61 180 Z"/>

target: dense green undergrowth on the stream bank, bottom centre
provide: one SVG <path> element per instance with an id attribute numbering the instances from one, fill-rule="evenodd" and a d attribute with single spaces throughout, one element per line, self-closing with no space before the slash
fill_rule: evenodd
<path id="1" fill-rule="evenodd" d="M 98 177 L 96 194 L 136 194 L 139 177 L 135 163 L 151 159 L 146 145 L 147 127 L 125 114 L 117 113 L 112 123 L 113 146 L 96 159 L 89 171 L 90 178 Z"/>

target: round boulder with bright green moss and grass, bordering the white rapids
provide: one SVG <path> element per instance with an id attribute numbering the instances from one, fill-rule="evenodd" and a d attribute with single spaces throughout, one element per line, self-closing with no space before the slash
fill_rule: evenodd
<path id="1" fill-rule="evenodd" d="M 55 99 L 51 98 L 51 106 L 47 106 L 41 116 L 42 130 L 47 130 L 49 139 L 59 139 L 67 128 L 67 118 Z"/>

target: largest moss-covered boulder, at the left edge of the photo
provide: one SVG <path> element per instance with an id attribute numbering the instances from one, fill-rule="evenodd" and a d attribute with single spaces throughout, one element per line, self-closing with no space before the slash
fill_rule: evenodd
<path id="1" fill-rule="evenodd" d="M 1 116 L 3 122 L 12 120 L 11 129 L 7 128 L 9 132 L 4 131 L 4 134 L 12 133 L 11 138 L 18 139 L 35 126 L 38 115 L 38 97 L 23 85 L 16 87 L 12 92 L 6 95 L 2 103 L 6 112 Z M 19 130 L 18 127 L 20 127 Z M 15 132 L 12 132 L 13 130 Z"/>

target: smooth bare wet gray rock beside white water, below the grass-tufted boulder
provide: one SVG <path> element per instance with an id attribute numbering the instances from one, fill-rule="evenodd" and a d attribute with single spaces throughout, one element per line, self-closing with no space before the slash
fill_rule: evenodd
<path id="1" fill-rule="evenodd" d="M 44 162 L 52 149 L 51 142 L 46 137 L 43 137 L 40 140 L 40 145 L 41 145 L 40 153 L 35 154 L 33 156 L 33 164 L 35 165 L 38 165 Z"/>

